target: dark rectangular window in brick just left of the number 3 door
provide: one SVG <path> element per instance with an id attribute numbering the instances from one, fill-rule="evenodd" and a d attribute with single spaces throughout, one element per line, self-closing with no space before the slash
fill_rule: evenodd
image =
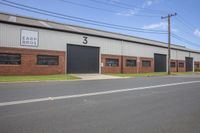
<path id="1" fill-rule="evenodd" d="M 38 55 L 37 56 L 38 65 L 58 65 L 59 57 L 50 55 Z"/>

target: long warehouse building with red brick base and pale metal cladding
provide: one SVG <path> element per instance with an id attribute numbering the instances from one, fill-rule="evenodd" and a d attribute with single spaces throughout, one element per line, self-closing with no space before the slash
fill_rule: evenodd
<path id="1" fill-rule="evenodd" d="M 200 52 L 172 45 L 171 71 L 194 71 Z M 0 75 L 167 71 L 167 44 L 0 13 Z"/>

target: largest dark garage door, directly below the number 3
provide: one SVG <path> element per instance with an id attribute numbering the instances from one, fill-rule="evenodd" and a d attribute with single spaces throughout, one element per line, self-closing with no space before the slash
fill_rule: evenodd
<path id="1" fill-rule="evenodd" d="M 68 73 L 99 73 L 99 48 L 67 45 Z"/>

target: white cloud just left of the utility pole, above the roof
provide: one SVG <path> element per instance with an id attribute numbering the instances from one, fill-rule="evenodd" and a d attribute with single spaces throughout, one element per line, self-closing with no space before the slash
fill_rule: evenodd
<path id="1" fill-rule="evenodd" d="M 162 29 L 162 30 L 165 30 L 165 29 L 167 29 L 167 22 L 160 22 L 160 23 L 145 25 L 145 26 L 143 26 L 143 29 Z"/>

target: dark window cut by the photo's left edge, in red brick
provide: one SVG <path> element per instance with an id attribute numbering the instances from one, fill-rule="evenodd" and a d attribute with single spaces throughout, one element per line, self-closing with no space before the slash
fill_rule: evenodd
<path id="1" fill-rule="evenodd" d="M 19 65 L 21 64 L 21 55 L 11 53 L 0 53 L 0 64 Z"/>

